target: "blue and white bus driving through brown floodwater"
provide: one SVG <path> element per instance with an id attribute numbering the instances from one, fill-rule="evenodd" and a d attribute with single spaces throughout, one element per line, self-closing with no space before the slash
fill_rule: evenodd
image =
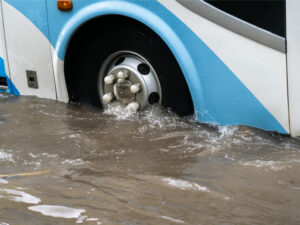
<path id="1" fill-rule="evenodd" d="M 298 0 L 0 0 L 0 91 L 300 136 Z"/>

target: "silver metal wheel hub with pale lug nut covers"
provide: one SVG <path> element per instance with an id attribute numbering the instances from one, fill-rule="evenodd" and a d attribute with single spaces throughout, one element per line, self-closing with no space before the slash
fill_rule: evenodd
<path id="1" fill-rule="evenodd" d="M 151 64 L 142 56 L 120 51 L 103 63 L 98 81 L 103 105 L 120 102 L 131 111 L 151 104 L 161 104 L 161 87 Z"/>

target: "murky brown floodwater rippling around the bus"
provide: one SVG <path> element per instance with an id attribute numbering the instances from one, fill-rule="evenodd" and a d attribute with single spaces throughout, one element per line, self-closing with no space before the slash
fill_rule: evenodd
<path id="1" fill-rule="evenodd" d="M 0 95 L 0 225 L 300 224 L 300 141 Z"/>

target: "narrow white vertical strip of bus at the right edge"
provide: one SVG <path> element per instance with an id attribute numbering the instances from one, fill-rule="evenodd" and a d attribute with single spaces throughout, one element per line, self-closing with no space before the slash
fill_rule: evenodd
<path id="1" fill-rule="evenodd" d="M 287 0 L 286 15 L 290 126 L 300 136 L 300 1 Z"/>

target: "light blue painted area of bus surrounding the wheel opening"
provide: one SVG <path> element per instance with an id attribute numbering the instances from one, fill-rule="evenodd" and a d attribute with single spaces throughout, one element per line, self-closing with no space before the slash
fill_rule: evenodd
<path id="1" fill-rule="evenodd" d="M 47 36 L 43 24 L 29 13 L 28 2 L 7 1 Z M 111 14 L 128 16 L 153 29 L 169 46 L 185 75 L 199 122 L 242 124 L 288 133 L 230 68 L 157 1 L 89 0 L 75 3 L 73 10 L 65 13 L 57 10 L 56 0 L 47 1 L 50 42 L 60 59 L 64 59 L 74 32 L 89 19 Z"/>

